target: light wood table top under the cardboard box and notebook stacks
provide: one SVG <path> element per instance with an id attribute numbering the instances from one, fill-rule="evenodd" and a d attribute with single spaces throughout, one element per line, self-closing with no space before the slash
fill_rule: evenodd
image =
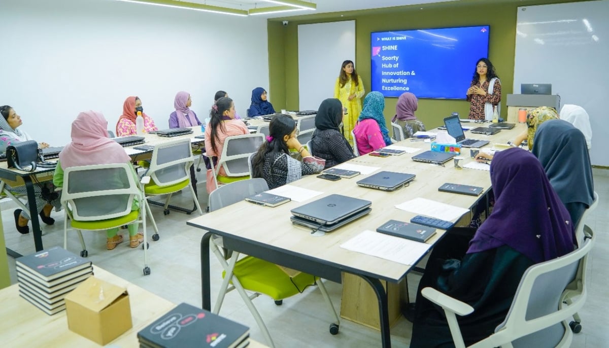
<path id="1" fill-rule="evenodd" d="M 139 347 L 137 333 L 151 322 L 175 307 L 175 304 L 131 284 L 121 277 L 94 266 L 99 279 L 127 288 L 130 297 L 132 329 L 110 343 L 114 347 Z M 4 347 L 99 347 L 89 339 L 68 330 L 66 311 L 46 315 L 43 311 L 21 298 L 19 285 L 0 290 L 0 341 Z M 266 347 L 250 340 L 248 347 Z"/>

